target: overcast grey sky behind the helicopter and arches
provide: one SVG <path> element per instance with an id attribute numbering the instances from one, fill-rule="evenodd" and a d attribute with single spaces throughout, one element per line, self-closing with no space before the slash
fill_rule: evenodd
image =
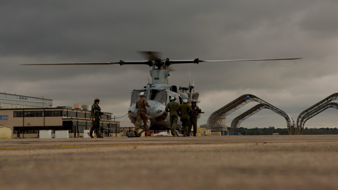
<path id="1" fill-rule="evenodd" d="M 52 98 L 54 106 L 91 105 L 99 97 L 103 111 L 120 117 L 131 91 L 151 80 L 151 67 L 19 64 L 143 61 L 138 50 L 162 51 L 163 59 L 173 60 L 304 57 L 173 65 L 177 71 L 169 77 L 171 85 L 187 87 L 190 67 L 205 112 L 198 125 L 243 94 L 296 121 L 300 112 L 338 92 L 337 9 L 334 0 L 3 0 L 0 92 Z M 255 104 L 227 116 L 227 125 Z M 328 109 L 305 127 L 337 127 L 337 113 Z M 286 121 L 262 110 L 241 126 L 286 128 Z"/>

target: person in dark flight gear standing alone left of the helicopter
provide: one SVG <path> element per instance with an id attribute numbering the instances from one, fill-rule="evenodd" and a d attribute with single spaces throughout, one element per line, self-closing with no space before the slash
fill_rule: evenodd
<path id="1" fill-rule="evenodd" d="M 99 102 L 100 102 L 100 99 L 95 98 L 94 104 L 92 105 L 92 110 L 90 111 L 91 118 L 92 118 L 92 128 L 89 131 L 89 136 L 91 138 L 94 138 L 93 137 L 93 131 L 94 130 L 95 130 L 95 134 L 96 134 L 97 138 L 103 138 L 102 135 L 100 134 L 99 128 L 100 128 L 100 116 L 105 115 L 105 113 L 101 112 Z"/>

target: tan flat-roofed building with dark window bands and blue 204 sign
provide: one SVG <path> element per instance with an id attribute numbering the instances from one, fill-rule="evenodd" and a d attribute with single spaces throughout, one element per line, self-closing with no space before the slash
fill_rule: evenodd
<path id="1" fill-rule="evenodd" d="M 119 132 L 119 122 L 112 114 L 101 116 L 100 129 L 104 137 Z M 83 130 L 92 127 L 89 110 L 71 107 L 0 109 L 0 125 L 12 128 L 12 138 L 35 138 L 39 130 L 69 130 L 69 137 L 83 137 Z"/>

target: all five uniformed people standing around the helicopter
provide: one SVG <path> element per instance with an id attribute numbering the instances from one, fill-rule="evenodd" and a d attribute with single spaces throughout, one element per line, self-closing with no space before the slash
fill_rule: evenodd
<path id="1" fill-rule="evenodd" d="M 135 123 L 135 130 L 134 133 L 136 136 L 139 136 L 141 133 L 141 122 L 143 121 L 144 123 L 144 132 L 145 136 L 150 136 L 149 129 L 148 129 L 148 116 L 147 116 L 147 109 L 146 107 L 150 108 L 150 105 L 148 104 L 147 100 L 145 99 L 145 93 L 141 92 L 140 93 L 140 99 L 136 101 L 136 109 L 137 111 L 137 119 Z M 92 128 L 90 129 L 88 135 L 90 138 L 94 138 L 93 132 L 95 130 L 96 137 L 97 138 L 103 138 L 103 136 L 99 132 L 100 128 L 100 116 L 105 115 L 104 112 L 101 112 L 101 108 L 99 106 L 100 99 L 95 98 L 94 99 L 94 104 L 92 105 L 91 109 L 91 118 L 92 118 Z M 183 103 L 179 104 L 176 102 L 176 97 L 171 96 L 170 97 L 170 102 L 166 105 L 165 111 L 170 113 L 170 130 L 171 130 L 171 135 L 176 137 L 176 125 L 178 121 L 178 117 L 181 118 L 182 121 L 182 129 L 181 133 L 185 137 L 190 136 L 191 128 L 193 126 L 194 130 L 194 137 L 196 136 L 197 133 L 197 116 L 199 113 L 201 113 L 201 109 L 198 108 L 196 105 L 196 100 L 191 101 L 191 106 L 188 104 L 188 99 L 183 99 Z"/>

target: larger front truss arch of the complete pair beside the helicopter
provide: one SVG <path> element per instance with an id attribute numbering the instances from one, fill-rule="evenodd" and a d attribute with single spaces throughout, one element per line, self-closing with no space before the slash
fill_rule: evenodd
<path id="1" fill-rule="evenodd" d="M 286 119 L 287 122 L 287 129 L 290 135 L 292 135 L 292 131 L 297 131 L 297 129 L 295 128 L 296 124 L 294 122 L 294 120 L 284 111 L 276 108 L 275 106 L 271 105 L 270 103 L 262 100 L 261 98 L 252 95 L 252 94 L 244 94 L 238 98 L 236 98 L 235 100 L 233 100 L 232 102 L 224 105 L 222 108 L 218 109 L 217 111 L 215 111 L 214 113 L 212 113 L 209 118 L 208 118 L 208 127 L 213 131 L 213 130 L 217 130 L 217 128 L 219 128 L 221 126 L 221 121 L 222 119 L 225 119 L 225 117 L 231 113 L 233 113 L 234 111 L 240 109 L 242 106 L 244 106 L 245 104 L 252 102 L 252 101 L 256 101 L 259 102 L 265 106 L 268 106 L 270 110 L 272 110 L 273 112 L 283 116 Z M 294 133 L 296 134 L 296 133 Z"/>

